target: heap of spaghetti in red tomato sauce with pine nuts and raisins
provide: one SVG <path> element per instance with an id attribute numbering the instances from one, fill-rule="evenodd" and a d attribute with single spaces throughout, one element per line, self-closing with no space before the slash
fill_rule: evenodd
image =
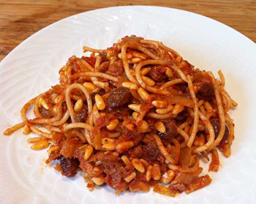
<path id="1" fill-rule="evenodd" d="M 64 176 L 83 171 L 90 190 L 154 186 L 175 196 L 209 185 L 199 156 L 209 161 L 211 154 L 209 171 L 218 171 L 217 148 L 229 157 L 234 139 L 227 112 L 237 103 L 224 90 L 223 73 L 218 80 L 161 42 L 134 35 L 83 50 L 90 57 L 72 56 L 59 70 L 59 84 L 28 101 L 23 122 L 4 134 L 24 127 L 24 134 L 39 135 L 28 140 L 31 148 L 49 148 L 46 162 L 57 160 Z M 31 106 L 34 119 L 26 116 Z"/>

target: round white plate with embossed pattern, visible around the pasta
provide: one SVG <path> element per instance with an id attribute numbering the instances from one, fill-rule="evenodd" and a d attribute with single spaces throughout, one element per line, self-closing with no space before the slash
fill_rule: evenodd
<path id="1" fill-rule="evenodd" d="M 32 151 L 17 131 L 0 136 L 1 203 L 255 203 L 255 43 L 215 20 L 162 7 L 114 7 L 60 20 L 18 45 L 0 64 L 0 132 L 20 121 L 27 100 L 58 82 L 58 70 L 82 46 L 105 48 L 135 34 L 162 41 L 201 69 L 219 69 L 238 101 L 232 155 L 202 190 L 171 198 L 149 193 L 115 195 L 108 187 L 89 192 L 82 176 L 66 179 L 45 165 L 45 150 Z"/>

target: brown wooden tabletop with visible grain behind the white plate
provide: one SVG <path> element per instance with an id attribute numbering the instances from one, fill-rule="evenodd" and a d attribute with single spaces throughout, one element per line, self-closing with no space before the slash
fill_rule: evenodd
<path id="1" fill-rule="evenodd" d="M 163 6 L 195 12 L 225 23 L 256 42 L 255 0 L 0 0 L 0 61 L 20 42 L 57 20 L 123 5 Z"/>

